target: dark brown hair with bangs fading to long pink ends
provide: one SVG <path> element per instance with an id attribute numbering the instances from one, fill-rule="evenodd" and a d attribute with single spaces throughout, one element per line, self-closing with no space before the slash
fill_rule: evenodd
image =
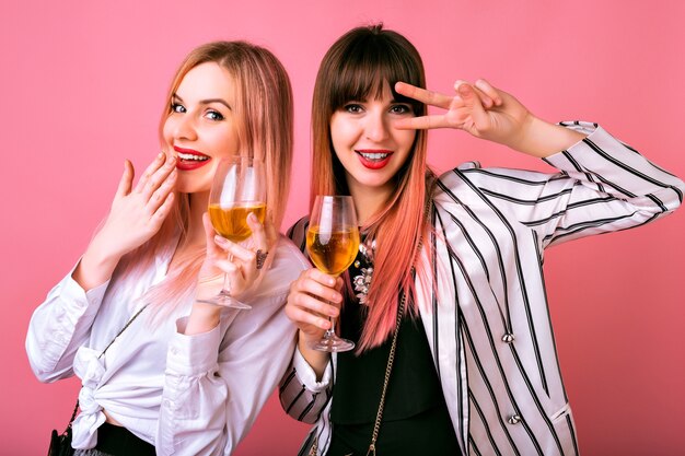
<path id="1" fill-rule="evenodd" d="M 426 114 L 426 105 L 395 92 L 395 82 L 425 87 L 423 63 L 414 45 L 383 25 L 358 27 L 341 36 L 324 56 L 316 75 L 312 102 L 312 194 L 349 195 L 342 164 L 333 150 L 330 118 L 350 101 L 382 96 L 390 85 L 394 100 L 407 103 L 414 114 Z M 426 165 L 426 131 L 417 130 L 407 162 L 394 177 L 395 191 L 384 209 L 362 230 L 375 238 L 373 280 L 369 312 L 359 350 L 382 344 L 395 328 L 399 291 L 407 294 L 407 311 L 417 315 L 413 267 L 421 239 L 428 233 L 426 207 L 434 174 Z M 419 279 L 426 271 L 417 269 Z M 350 293 L 350 290 L 346 291 Z"/>

